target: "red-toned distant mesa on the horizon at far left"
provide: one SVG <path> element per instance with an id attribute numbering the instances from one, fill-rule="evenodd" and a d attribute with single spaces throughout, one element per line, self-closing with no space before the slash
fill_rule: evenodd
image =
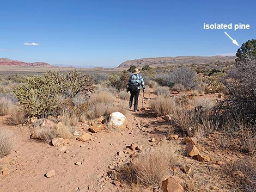
<path id="1" fill-rule="evenodd" d="M 8 58 L 0 58 L 0 66 L 52 67 L 52 65 L 44 62 L 26 63 Z"/>

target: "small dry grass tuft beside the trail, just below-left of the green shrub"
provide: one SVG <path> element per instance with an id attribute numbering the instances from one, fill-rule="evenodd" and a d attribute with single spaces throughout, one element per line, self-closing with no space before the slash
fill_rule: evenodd
<path id="1" fill-rule="evenodd" d="M 13 110 L 7 117 L 5 123 L 8 125 L 21 125 L 27 121 L 27 117 L 28 115 L 26 112 L 16 108 L 16 110 Z"/>

